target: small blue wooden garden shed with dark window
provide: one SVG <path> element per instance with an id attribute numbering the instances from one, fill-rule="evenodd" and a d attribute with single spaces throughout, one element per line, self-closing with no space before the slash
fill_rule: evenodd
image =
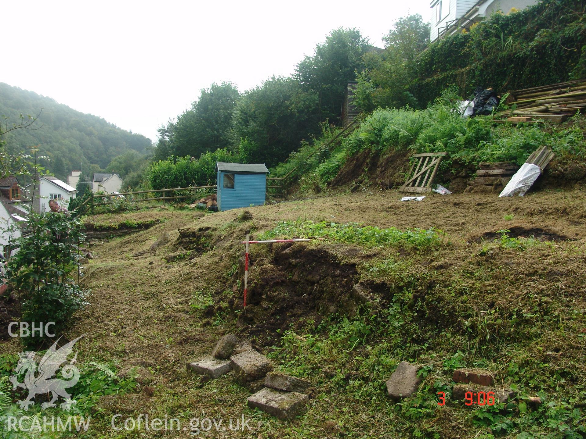
<path id="1" fill-rule="evenodd" d="M 264 204 L 268 169 L 264 164 L 216 162 L 218 210 Z"/>

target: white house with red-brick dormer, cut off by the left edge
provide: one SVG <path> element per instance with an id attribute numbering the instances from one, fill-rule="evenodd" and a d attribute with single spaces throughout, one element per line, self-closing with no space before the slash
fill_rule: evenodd
<path id="1" fill-rule="evenodd" d="M 5 258 L 16 252 L 11 242 L 21 236 L 18 224 L 25 221 L 26 215 L 21 201 L 21 187 L 16 177 L 0 179 L 0 250 Z"/>

